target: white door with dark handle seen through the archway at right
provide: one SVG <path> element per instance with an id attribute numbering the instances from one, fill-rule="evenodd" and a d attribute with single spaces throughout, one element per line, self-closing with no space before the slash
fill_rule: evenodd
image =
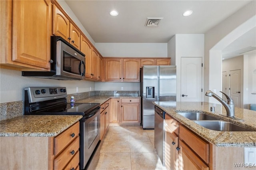
<path id="1" fill-rule="evenodd" d="M 240 107 L 240 76 L 241 70 L 232 70 L 230 71 L 230 96 L 234 100 L 234 105 Z"/>

